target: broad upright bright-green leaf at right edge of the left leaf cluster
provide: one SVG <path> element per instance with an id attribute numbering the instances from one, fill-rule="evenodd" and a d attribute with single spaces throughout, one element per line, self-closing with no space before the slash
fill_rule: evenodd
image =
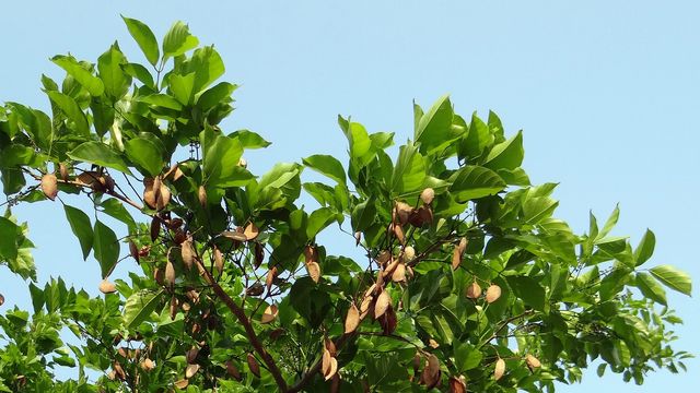
<path id="1" fill-rule="evenodd" d="M 252 179 L 250 172 L 238 166 L 243 147 L 236 139 L 219 134 L 206 148 L 205 183 L 220 188 L 240 187 Z"/>

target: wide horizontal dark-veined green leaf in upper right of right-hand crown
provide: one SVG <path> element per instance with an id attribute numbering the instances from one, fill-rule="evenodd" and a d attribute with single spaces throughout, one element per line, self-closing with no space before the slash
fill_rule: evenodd
<path id="1" fill-rule="evenodd" d="M 494 195 L 505 189 L 505 182 L 493 170 L 467 165 L 451 177 L 450 191 L 457 202 Z"/>

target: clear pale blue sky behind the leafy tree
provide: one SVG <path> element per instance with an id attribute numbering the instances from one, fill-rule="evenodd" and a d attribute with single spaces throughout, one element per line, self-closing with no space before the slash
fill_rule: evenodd
<path id="1" fill-rule="evenodd" d="M 558 216 L 575 229 L 586 228 L 588 210 L 605 219 L 619 202 L 618 235 L 637 243 L 646 227 L 655 231 L 648 263 L 675 264 L 696 279 L 695 298 L 669 293 L 669 301 L 686 320 L 676 347 L 700 354 L 697 2 L 113 3 L 4 3 L 0 102 L 46 109 L 39 75 L 61 75 L 48 61 L 56 53 L 94 61 L 118 39 L 131 60 L 143 62 L 119 13 L 144 21 L 159 37 L 183 20 L 202 44 L 217 46 L 224 78 L 242 84 L 226 126 L 273 142 L 248 157 L 256 172 L 319 152 L 343 156 L 337 114 L 405 140 L 412 135 L 411 100 L 429 106 L 451 93 L 457 112 L 493 109 L 508 132 L 525 130 L 526 170 L 534 182 L 561 183 Z M 96 293 L 97 265 L 81 261 L 57 205 L 15 214 L 31 223 L 42 282 L 60 274 Z M 26 285 L 4 269 L 0 288 L 9 303 L 30 306 Z M 582 385 L 561 391 L 687 391 L 700 382 L 698 365 L 688 361 L 690 372 L 679 376 L 651 374 L 642 388 L 592 370 Z"/>

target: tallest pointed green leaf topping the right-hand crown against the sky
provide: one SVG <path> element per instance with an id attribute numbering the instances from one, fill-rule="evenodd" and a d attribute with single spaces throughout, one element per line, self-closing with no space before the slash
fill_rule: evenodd
<path id="1" fill-rule="evenodd" d="M 454 111 L 450 96 L 438 99 L 430 110 L 422 115 L 415 131 L 415 140 L 420 143 L 420 152 L 431 155 L 448 146 L 459 134 L 452 131 Z"/>

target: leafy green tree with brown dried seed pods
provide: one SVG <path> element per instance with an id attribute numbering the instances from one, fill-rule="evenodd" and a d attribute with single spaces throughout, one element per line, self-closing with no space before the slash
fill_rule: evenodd
<path id="1" fill-rule="evenodd" d="M 495 114 L 465 119 L 446 96 L 416 105 L 396 159 L 393 133 L 339 117 L 347 166 L 317 154 L 257 177 L 243 153 L 269 142 L 221 129 L 236 85 L 215 83 L 214 48 L 182 22 L 159 46 L 124 21 L 150 64 L 117 43 L 96 64 L 56 56 L 67 75 L 42 79 L 50 116 L 0 107 L 0 260 L 35 281 L 10 206 L 54 201 L 104 293 L 30 283 L 32 315 L 0 317 L 0 391 L 539 392 L 594 361 L 637 383 L 685 369 L 664 286 L 690 295 L 688 275 L 642 267 L 654 234 L 635 248 L 610 236 L 617 209 L 583 235 L 555 218 L 556 184 L 530 184 L 523 135 Z M 303 182 L 304 168 L 328 181 Z M 318 209 L 299 206 L 302 189 Z M 362 259 L 317 243 L 325 229 Z M 125 259 L 140 271 L 110 281 Z M 81 344 L 65 345 L 63 327 Z M 78 378 L 58 381 L 56 366 Z"/>

